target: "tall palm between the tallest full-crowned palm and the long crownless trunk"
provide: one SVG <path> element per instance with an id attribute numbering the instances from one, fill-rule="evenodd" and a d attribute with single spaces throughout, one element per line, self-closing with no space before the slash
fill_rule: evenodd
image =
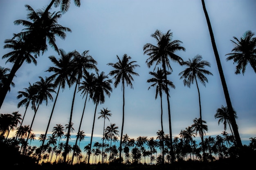
<path id="1" fill-rule="evenodd" d="M 207 77 L 205 75 L 213 75 L 211 72 L 204 69 L 205 66 L 211 66 L 211 64 L 205 60 L 202 60 L 201 55 L 196 55 L 191 60 L 189 58 L 188 61 L 182 62 L 182 65 L 187 66 L 187 68 L 180 72 L 181 75 L 180 79 L 183 79 L 184 86 L 188 86 L 190 88 L 191 84 L 195 82 L 196 87 L 198 89 L 198 99 L 199 99 L 199 109 L 200 109 L 200 119 L 202 120 L 202 108 L 201 108 L 201 99 L 200 99 L 200 91 L 198 87 L 198 81 L 205 86 L 205 82 L 208 82 Z M 201 121 L 202 123 L 202 121 Z M 202 125 L 201 125 L 202 126 Z M 202 129 L 201 129 L 202 130 Z M 202 134 L 202 132 L 201 132 Z M 204 139 L 202 138 L 202 148 L 204 152 Z"/>

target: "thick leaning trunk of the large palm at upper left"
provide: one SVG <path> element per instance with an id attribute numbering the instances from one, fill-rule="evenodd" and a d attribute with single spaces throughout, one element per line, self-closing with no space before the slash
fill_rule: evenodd
<path id="1" fill-rule="evenodd" d="M 0 95 L 0 108 L 2 107 L 5 96 L 7 95 L 7 92 L 9 91 L 13 77 L 15 76 L 15 73 L 18 71 L 18 69 L 20 68 L 23 62 L 24 62 L 24 59 L 22 59 L 21 57 L 16 60 L 16 62 L 13 64 L 13 67 L 11 68 L 7 81 L 2 86 L 1 95 Z"/>

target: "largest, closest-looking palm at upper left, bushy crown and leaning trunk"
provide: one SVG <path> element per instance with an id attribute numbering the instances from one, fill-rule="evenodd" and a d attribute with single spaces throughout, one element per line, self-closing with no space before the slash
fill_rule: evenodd
<path id="1" fill-rule="evenodd" d="M 10 44 L 6 44 L 4 48 L 11 48 L 14 51 L 7 53 L 2 58 L 11 57 L 13 60 L 9 58 L 7 62 L 12 62 L 14 64 L 6 83 L 1 89 L 2 95 L 0 96 L 0 107 L 4 102 L 4 98 L 15 73 L 23 62 L 26 61 L 27 63 L 31 63 L 32 61 L 36 64 L 35 58 L 40 54 L 40 51 L 44 53 L 47 50 L 46 40 L 48 40 L 49 45 L 59 53 L 58 47 L 55 43 L 55 35 L 64 40 L 66 37 L 65 31 L 71 32 L 71 29 L 58 24 L 58 19 L 61 18 L 60 12 L 49 13 L 47 11 L 43 17 L 43 10 L 34 11 L 34 9 L 29 5 L 25 5 L 25 7 L 28 11 L 27 18 L 32 22 L 27 20 L 14 21 L 14 24 L 22 24 L 26 28 L 22 30 L 23 32 L 14 35 L 11 40 L 5 41 L 5 43 Z M 33 57 L 31 53 L 34 53 L 35 57 Z"/>

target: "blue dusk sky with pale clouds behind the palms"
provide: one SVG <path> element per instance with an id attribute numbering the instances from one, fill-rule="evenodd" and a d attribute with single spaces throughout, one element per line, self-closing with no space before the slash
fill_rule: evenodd
<path id="1" fill-rule="evenodd" d="M 51 0 L 8 0 L 0 1 L 0 46 L 4 46 L 4 40 L 10 39 L 13 33 L 19 33 L 25 27 L 14 25 L 15 20 L 27 20 L 25 4 L 29 4 L 34 10 L 46 7 Z M 205 0 L 207 12 L 211 20 L 213 33 L 216 40 L 220 61 L 224 71 L 232 106 L 237 112 L 238 131 L 242 141 L 256 137 L 256 74 L 251 66 L 247 66 L 245 74 L 236 75 L 233 61 L 227 61 L 225 56 L 231 53 L 233 45 L 230 40 L 233 36 L 238 39 L 251 30 L 256 33 L 256 1 L 255 0 Z M 52 7 L 51 12 L 59 11 L 59 7 Z M 156 44 L 151 37 L 157 29 L 166 33 L 173 32 L 173 40 L 180 40 L 186 51 L 175 53 L 184 61 L 192 59 L 195 55 L 202 55 L 203 60 L 210 62 L 209 70 L 212 75 L 207 75 L 206 86 L 199 84 L 202 104 L 202 119 L 207 121 L 207 136 L 221 135 L 224 130 L 223 124 L 218 125 L 218 119 L 214 118 L 216 110 L 222 105 L 226 106 L 223 88 L 220 82 L 220 75 L 212 49 L 211 39 L 207 22 L 200 0 L 81 0 L 81 6 L 76 7 L 71 0 L 69 11 L 64 13 L 58 23 L 68 27 L 72 33 L 67 32 L 65 40 L 56 38 L 59 49 L 66 52 L 73 50 L 83 53 L 89 50 L 97 62 L 99 72 L 106 75 L 113 70 L 108 63 L 117 62 L 127 54 L 136 61 L 140 67 L 135 68 L 139 76 L 134 76 L 133 89 L 125 87 L 125 118 L 124 135 L 130 138 L 139 136 L 156 137 L 156 132 L 161 129 L 160 119 L 160 98 L 155 99 L 155 88 L 147 80 L 152 78 L 148 73 L 153 71 L 154 66 L 148 68 L 146 65 L 147 55 L 144 55 L 143 46 L 146 43 Z M 1 49 L 0 56 L 8 53 L 9 49 Z M 0 113 L 12 113 L 18 111 L 22 117 L 25 107 L 17 108 L 20 99 L 17 99 L 18 91 L 39 81 L 39 76 L 49 77 L 51 73 L 45 72 L 49 66 L 54 66 L 49 56 L 58 54 L 50 48 L 37 59 L 37 66 L 24 63 L 17 71 L 10 93 L 4 100 Z M 11 68 L 12 64 L 5 64 L 6 59 L 0 60 L 0 66 Z M 173 137 L 179 137 L 181 130 L 193 124 L 193 119 L 199 118 L 198 91 L 195 84 L 190 88 L 184 86 L 178 75 L 185 69 L 177 63 L 171 62 L 172 74 L 168 77 L 175 85 L 170 89 L 171 126 Z M 109 79 L 112 79 L 109 76 Z M 57 89 L 56 89 L 57 90 Z M 56 124 L 68 123 L 72 105 L 74 86 L 65 88 L 59 94 L 54 114 L 48 132 Z M 53 97 L 55 99 L 55 94 Z M 164 108 L 164 132 L 168 130 L 168 110 L 166 96 L 163 97 Z M 76 94 L 72 122 L 74 134 L 77 133 L 85 99 L 81 93 Z M 39 106 L 38 112 L 32 126 L 32 132 L 39 137 L 44 134 L 53 102 Z M 122 89 L 115 88 L 112 84 L 110 97 L 106 96 L 104 104 L 97 108 L 97 117 L 101 109 L 107 108 L 112 113 L 106 120 L 106 126 L 110 123 L 119 127 L 121 135 L 122 122 Z M 92 122 L 95 105 L 90 100 L 85 108 L 85 115 L 81 130 L 86 137 L 92 132 Z M 27 110 L 23 125 L 31 124 L 34 111 Z M 231 131 L 227 128 L 227 133 Z M 94 137 L 101 137 L 103 134 L 103 119 L 95 120 Z M 120 139 L 120 138 L 119 138 Z M 71 139 L 72 141 L 73 139 Z"/>

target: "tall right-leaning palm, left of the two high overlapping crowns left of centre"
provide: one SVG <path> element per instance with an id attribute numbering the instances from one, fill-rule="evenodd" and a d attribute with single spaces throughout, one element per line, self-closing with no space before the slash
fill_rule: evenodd
<path id="1" fill-rule="evenodd" d="M 52 115 L 53 115 L 53 112 L 54 112 L 54 108 L 55 108 L 55 105 L 56 105 L 56 101 L 57 101 L 60 89 L 62 88 L 64 90 L 66 84 L 69 87 L 71 86 L 70 81 L 69 81 L 69 77 L 72 73 L 71 63 L 72 63 L 73 52 L 66 53 L 63 49 L 60 49 L 60 55 L 61 55 L 61 57 L 59 59 L 56 59 L 56 57 L 53 56 L 53 55 L 49 56 L 49 59 L 51 60 L 51 62 L 55 66 L 50 66 L 48 68 L 47 72 L 53 72 L 54 73 L 53 75 L 51 75 L 49 77 L 49 79 L 54 79 L 54 85 L 58 86 L 58 91 L 57 91 L 57 94 L 56 94 L 56 97 L 55 97 L 55 100 L 54 100 L 54 104 L 53 104 L 53 107 L 52 107 L 52 112 L 51 112 L 51 115 L 49 117 L 47 128 L 45 130 L 45 137 L 42 141 L 41 146 L 43 146 L 44 143 L 45 143 L 46 135 L 47 135 L 47 132 L 48 132 L 48 129 L 49 129 L 50 122 L 52 120 Z M 42 149 L 40 149 L 37 163 L 40 161 L 41 152 L 42 152 Z"/>

